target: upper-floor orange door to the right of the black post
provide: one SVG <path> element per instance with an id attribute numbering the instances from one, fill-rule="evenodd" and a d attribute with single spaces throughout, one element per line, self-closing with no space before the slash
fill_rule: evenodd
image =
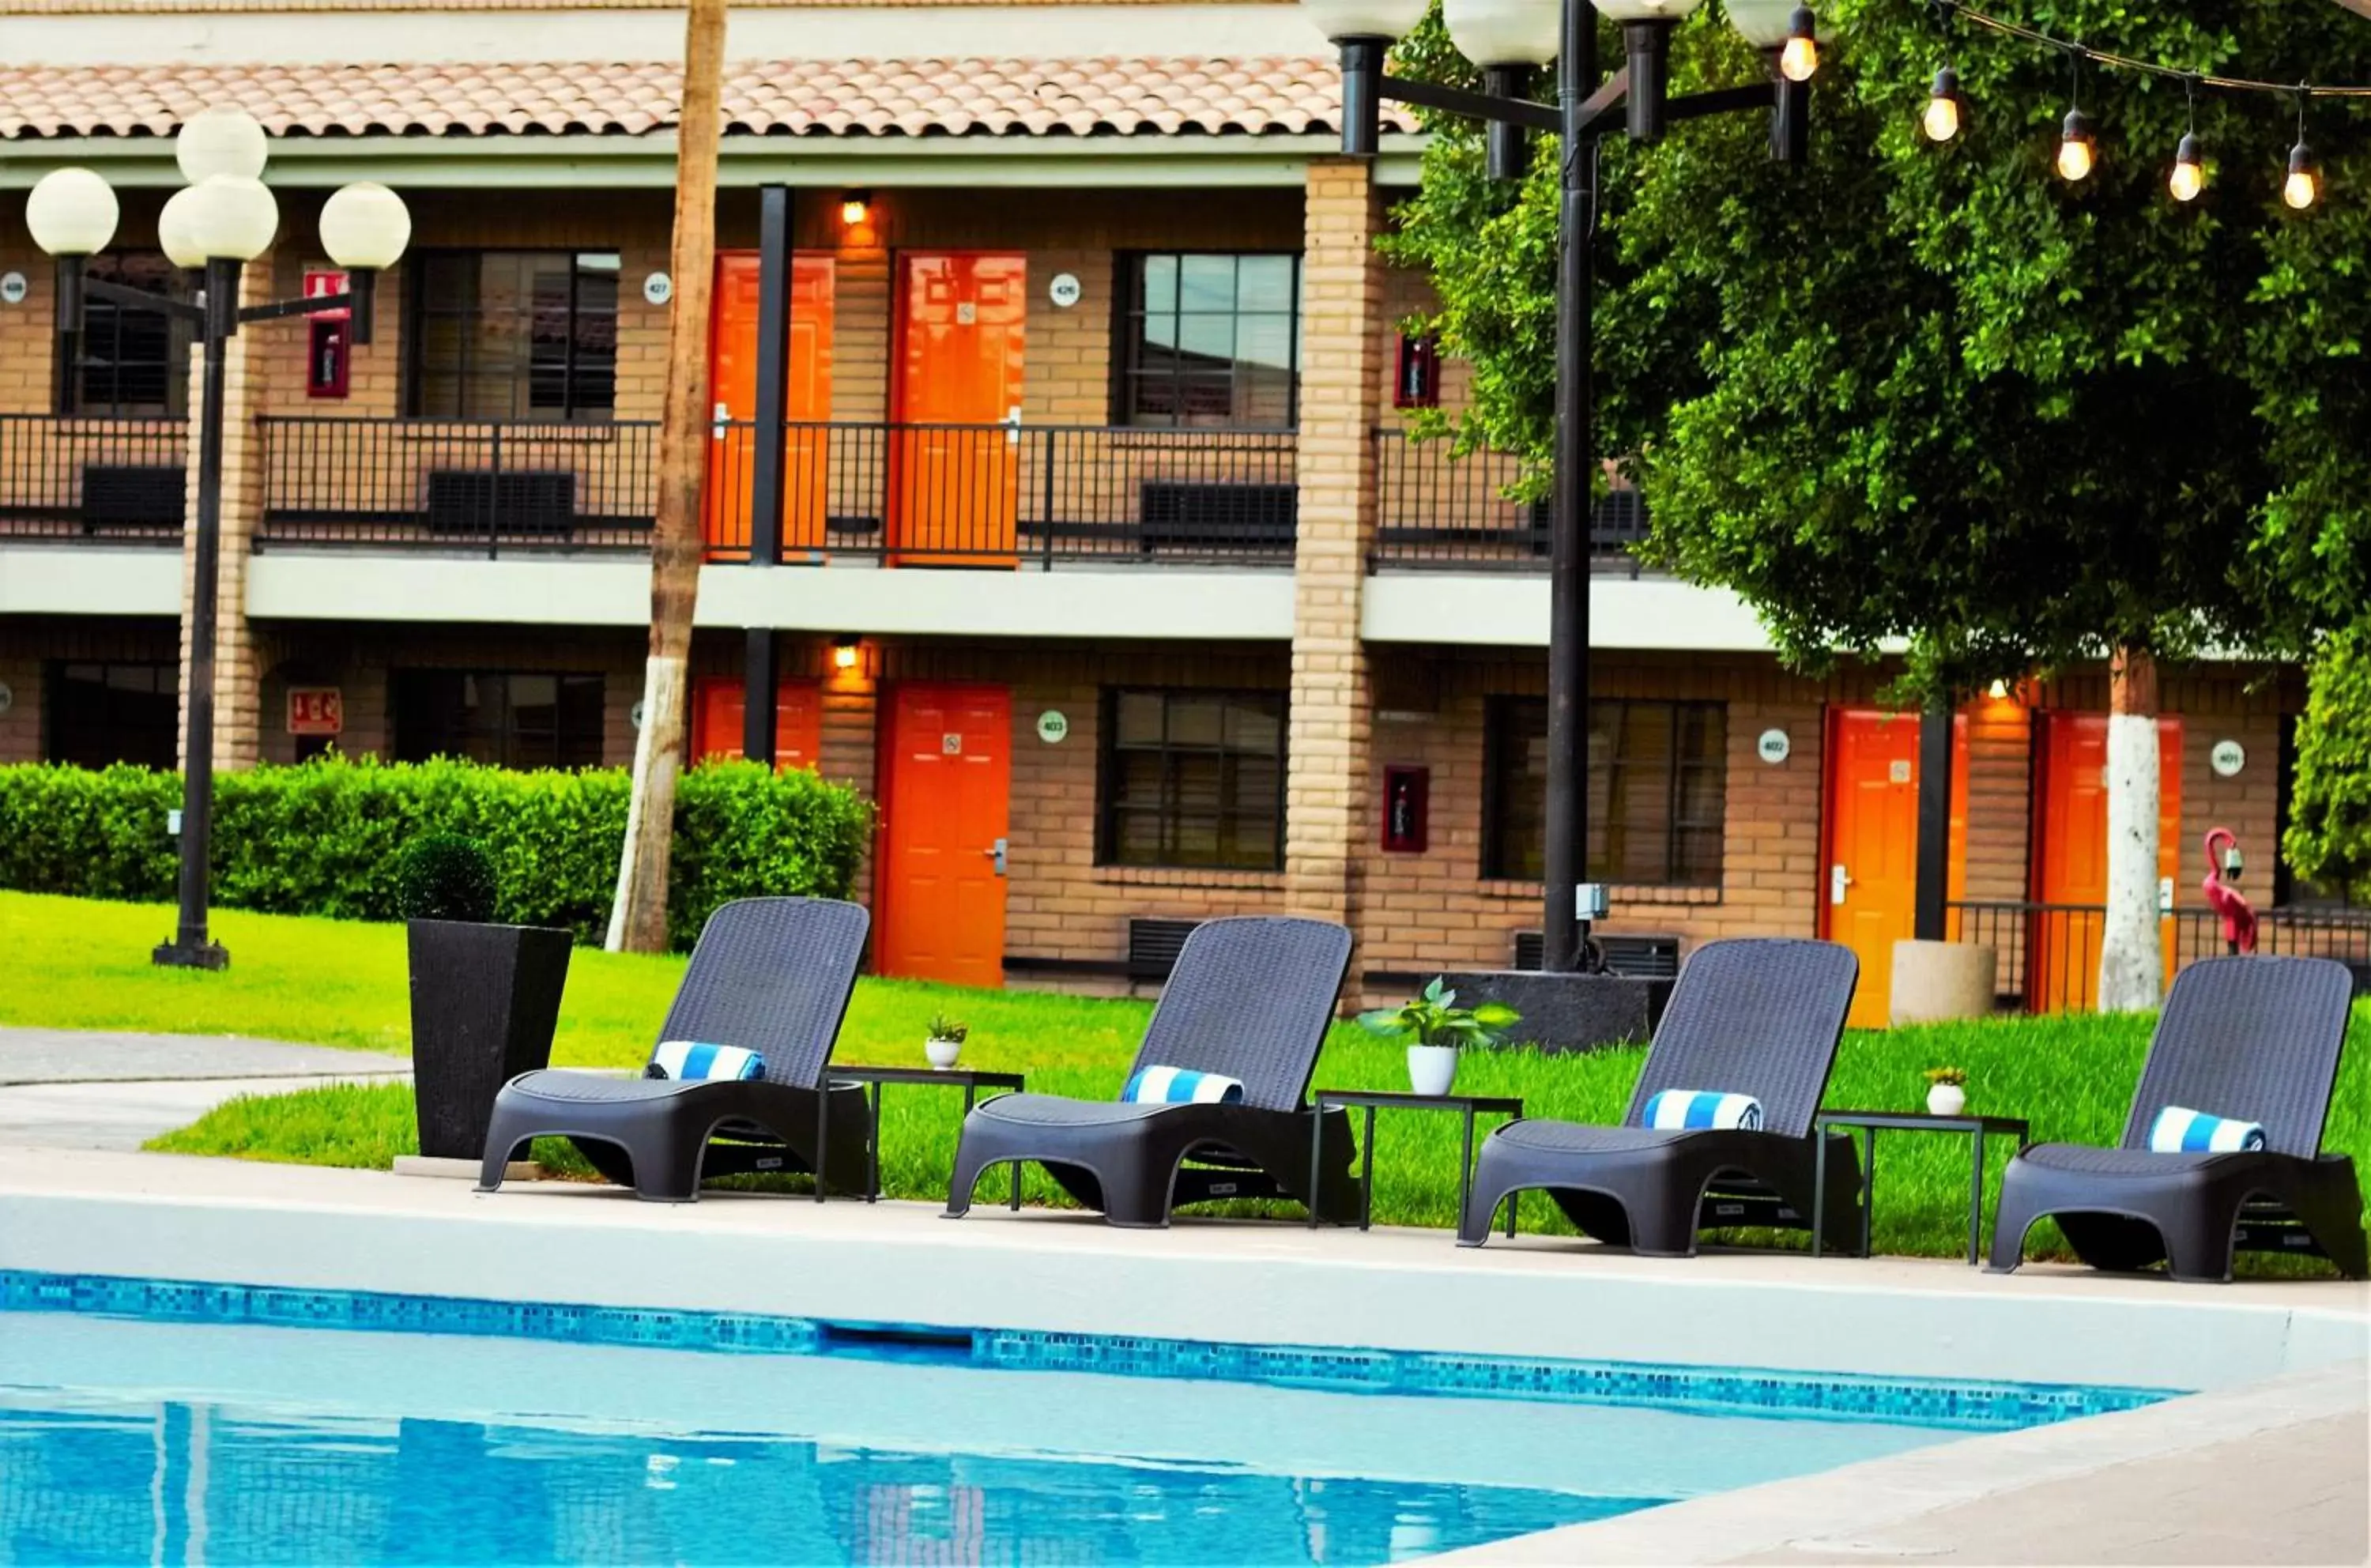
<path id="1" fill-rule="evenodd" d="M 891 565 L 1015 565 L 1027 282 L 1024 256 L 901 259 Z"/>

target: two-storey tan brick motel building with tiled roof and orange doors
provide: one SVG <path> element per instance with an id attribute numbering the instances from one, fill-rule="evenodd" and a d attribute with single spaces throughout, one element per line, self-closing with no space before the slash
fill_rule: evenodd
<path id="1" fill-rule="evenodd" d="M 673 66 L 647 62 L 680 14 L 0 0 L 0 761 L 173 761 L 190 349 L 104 301 L 55 332 L 19 216 L 43 171 L 100 168 L 100 275 L 185 287 L 154 249 L 166 138 L 218 102 L 275 133 L 254 299 L 325 268 L 337 185 L 415 218 L 372 344 L 289 318 L 230 349 L 218 761 L 628 761 L 673 173 Z M 1399 434 L 1463 382 L 1370 247 L 1420 142 L 1392 123 L 1340 159 L 1325 55 L 1268 0 L 735 7 L 692 745 L 740 747 L 744 638 L 773 629 L 778 757 L 884 807 L 884 970 L 1143 984 L 1178 923 L 1295 909 L 1349 920 L 1387 992 L 1539 925 L 1546 531 L 1503 463 Z M 771 185 L 792 425 L 782 557 L 752 562 Z M 1641 574 L 1624 501 L 1593 529 L 1603 930 L 1627 963 L 1852 939 L 1878 1020 L 1916 719 L 1878 712 L 1885 671 L 1792 676 L 1731 595 Z M 318 693 L 334 738 L 296 733 Z M 2276 939 L 2359 946 L 2269 875 L 2293 671 L 2165 697 L 2174 956 L 2217 946 L 2207 823 L 2297 911 Z M 2072 671 L 1963 716 L 1954 920 L 2032 1006 L 2089 994 L 2103 712 Z"/>

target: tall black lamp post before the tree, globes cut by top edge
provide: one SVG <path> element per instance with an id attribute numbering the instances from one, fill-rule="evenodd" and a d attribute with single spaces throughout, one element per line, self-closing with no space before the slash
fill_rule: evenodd
<path id="1" fill-rule="evenodd" d="M 1809 149 L 1809 76 L 1819 66 L 1814 17 L 1795 0 L 1728 0 L 1738 33 L 1762 47 L 1771 76 L 1762 83 L 1672 97 L 1664 90 L 1672 28 L 1700 0 L 1596 0 L 1622 24 L 1624 64 L 1598 81 L 1598 31 L 1591 0 L 1442 0 L 1449 40 L 1482 66 L 1484 93 L 1387 76 L 1385 50 L 1425 19 L 1430 0 L 1302 0 L 1342 50 L 1342 152 L 1373 157 L 1382 102 L 1444 109 L 1489 128 L 1491 178 L 1522 173 L 1522 133 L 1562 140 L 1555 270 L 1555 477 L 1548 550 L 1548 811 L 1541 968 L 1596 970 L 1589 923 L 1605 916 L 1605 887 L 1584 882 L 1589 852 L 1589 472 L 1591 422 L 1591 237 L 1596 230 L 1596 159 L 1581 142 L 1610 128 L 1617 107 L 1636 142 L 1662 138 L 1669 121 L 1705 114 L 1771 111 L 1771 157 L 1800 164 Z M 1558 62 L 1555 107 L 1525 97 L 1532 66 Z"/>

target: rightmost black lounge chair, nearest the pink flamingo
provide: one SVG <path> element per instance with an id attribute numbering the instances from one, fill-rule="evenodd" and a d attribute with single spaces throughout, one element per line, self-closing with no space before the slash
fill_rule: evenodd
<path id="1" fill-rule="evenodd" d="M 2181 970 L 2122 1146 L 2034 1143 L 2008 1162 L 1992 1271 L 2015 1269 L 2025 1234 L 2051 1215 L 2094 1269 L 2162 1260 L 2174 1279 L 2226 1281 L 2245 1248 L 2371 1274 L 2354 1160 L 2321 1153 L 2352 996 L 2354 975 L 2331 958 L 2203 958 Z M 2264 1150 L 2155 1153 L 2148 1129 L 2167 1105 L 2257 1122 Z"/>

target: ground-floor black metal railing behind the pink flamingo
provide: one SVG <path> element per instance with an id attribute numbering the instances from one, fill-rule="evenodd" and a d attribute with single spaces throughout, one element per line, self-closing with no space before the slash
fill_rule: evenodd
<path id="1" fill-rule="evenodd" d="M 1956 901 L 1949 937 L 1996 954 L 2003 1006 L 2030 1013 L 2089 1008 L 2098 999 L 2098 944 L 2108 925 L 2101 904 L 2037 904 L 2022 899 Z M 2167 977 L 2224 946 L 2212 909 L 2184 906 L 2160 918 Z M 2371 965 L 2371 909 L 2260 909 L 2255 951 L 2338 958 Z"/>

